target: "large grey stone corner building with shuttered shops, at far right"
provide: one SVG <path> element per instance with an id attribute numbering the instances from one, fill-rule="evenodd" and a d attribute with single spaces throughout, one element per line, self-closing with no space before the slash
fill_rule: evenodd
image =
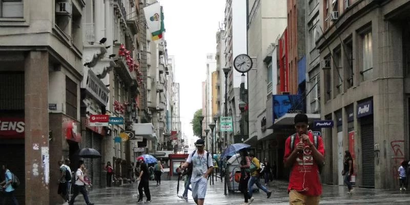
<path id="1" fill-rule="evenodd" d="M 406 1 L 320 1 L 320 116 L 326 182 L 340 184 L 343 152 L 359 187 L 398 188 L 409 158 L 410 40 Z M 335 137 L 333 137 L 335 136 Z"/>

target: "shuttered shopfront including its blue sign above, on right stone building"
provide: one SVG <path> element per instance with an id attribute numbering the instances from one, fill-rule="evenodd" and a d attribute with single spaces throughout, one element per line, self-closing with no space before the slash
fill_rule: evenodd
<path id="1" fill-rule="evenodd" d="M 375 187 L 373 99 L 366 99 L 357 103 L 356 117 L 360 121 L 362 142 L 362 186 Z"/>

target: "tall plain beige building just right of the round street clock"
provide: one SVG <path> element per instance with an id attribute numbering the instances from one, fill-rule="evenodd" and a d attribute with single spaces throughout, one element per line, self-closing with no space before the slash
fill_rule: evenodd
<path id="1" fill-rule="evenodd" d="M 272 95 L 276 94 L 273 87 L 277 79 L 275 42 L 286 27 L 286 3 L 253 0 L 248 1 L 248 8 L 248 55 L 253 57 L 253 68 L 248 72 L 250 123 L 245 143 L 257 148 L 260 159 L 276 160 L 277 149 L 271 146 L 273 130 L 267 129 L 263 122 L 272 118 Z"/>

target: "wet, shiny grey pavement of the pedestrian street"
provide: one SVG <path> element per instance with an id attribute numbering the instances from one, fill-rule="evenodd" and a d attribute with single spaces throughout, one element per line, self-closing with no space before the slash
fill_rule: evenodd
<path id="1" fill-rule="evenodd" d="M 160 186 L 156 186 L 155 181 L 150 181 L 152 196 L 151 204 L 195 204 L 189 192 L 188 200 L 177 197 L 177 181 L 162 181 Z M 264 192 L 254 194 L 252 204 L 289 204 L 288 194 L 286 193 L 286 181 L 272 181 L 269 190 L 272 190 L 271 198 L 267 199 Z M 240 193 L 228 193 L 223 195 L 223 183 L 216 181 L 214 185 L 208 184 L 205 204 L 241 204 L 243 195 Z M 345 186 L 323 185 L 323 193 L 320 204 L 410 204 L 410 191 L 400 192 L 394 190 L 376 190 L 355 188 L 352 195 L 346 194 Z M 183 181 L 180 182 L 179 195 L 183 193 Z M 136 184 L 125 185 L 122 187 L 93 189 L 90 192 L 90 200 L 96 205 L 108 204 L 145 204 L 137 203 L 138 190 Z M 144 197 L 144 201 L 146 198 Z M 79 195 L 75 204 L 85 204 L 84 199 Z"/>

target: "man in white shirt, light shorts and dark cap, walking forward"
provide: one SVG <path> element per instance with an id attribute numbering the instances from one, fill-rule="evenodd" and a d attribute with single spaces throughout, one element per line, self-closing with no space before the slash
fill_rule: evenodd
<path id="1" fill-rule="evenodd" d="M 212 156 L 204 150 L 205 141 L 198 139 L 195 146 L 197 150 L 188 156 L 187 161 L 181 167 L 185 169 L 192 163 L 192 198 L 196 204 L 203 205 L 207 193 L 208 175 L 212 172 L 214 165 Z"/>

